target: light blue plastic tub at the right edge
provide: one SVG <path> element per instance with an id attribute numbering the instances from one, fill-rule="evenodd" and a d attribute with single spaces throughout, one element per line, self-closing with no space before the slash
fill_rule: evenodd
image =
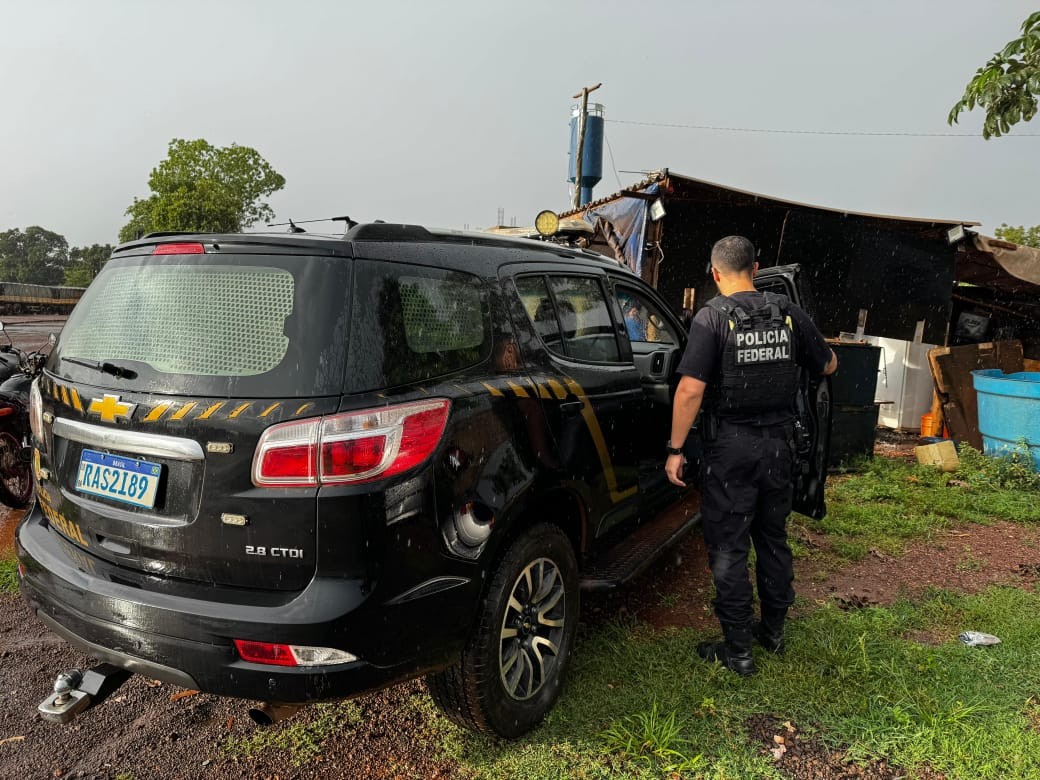
<path id="1" fill-rule="evenodd" d="M 979 395 L 979 433 L 983 451 L 1002 454 L 1022 439 L 1040 471 L 1040 371 L 1005 373 L 999 368 L 972 371 Z"/>

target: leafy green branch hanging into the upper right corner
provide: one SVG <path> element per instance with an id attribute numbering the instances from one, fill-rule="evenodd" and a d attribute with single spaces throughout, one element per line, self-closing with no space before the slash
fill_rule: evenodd
<path id="1" fill-rule="evenodd" d="M 950 110 L 954 125 L 961 111 L 976 106 L 986 110 L 982 136 L 987 140 L 1010 132 L 1011 126 L 1029 122 L 1037 112 L 1040 95 L 1040 11 L 1022 22 L 1022 35 L 1008 43 L 976 71 L 964 95 Z"/>

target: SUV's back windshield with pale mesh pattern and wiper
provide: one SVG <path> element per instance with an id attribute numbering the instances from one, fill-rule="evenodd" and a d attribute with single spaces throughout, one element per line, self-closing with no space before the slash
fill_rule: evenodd
<path id="1" fill-rule="evenodd" d="M 280 255 L 112 260 L 69 318 L 51 365 L 90 384 L 211 396 L 339 392 L 349 261 Z"/>

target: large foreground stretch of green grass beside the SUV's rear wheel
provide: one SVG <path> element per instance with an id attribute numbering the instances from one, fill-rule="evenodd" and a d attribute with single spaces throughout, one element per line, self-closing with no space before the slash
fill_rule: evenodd
<path id="1" fill-rule="evenodd" d="M 968 648 L 966 628 L 1004 644 Z M 908 635 L 931 635 L 935 646 Z M 702 635 L 619 622 L 587 629 L 546 724 L 515 743 L 440 721 L 442 750 L 488 778 L 779 777 L 747 739 L 755 713 L 789 720 L 858 760 L 925 763 L 951 778 L 1040 777 L 1040 594 L 937 591 L 918 604 L 823 607 L 788 652 L 743 679 L 696 657 Z"/>

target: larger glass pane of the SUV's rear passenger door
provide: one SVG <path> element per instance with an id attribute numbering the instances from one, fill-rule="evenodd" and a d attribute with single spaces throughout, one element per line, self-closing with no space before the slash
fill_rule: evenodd
<path id="1" fill-rule="evenodd" d="M 550 277 L 567 354 L 578 360 L 621 360 L 614 322 L 599 281 L 591 277 Z"/>

